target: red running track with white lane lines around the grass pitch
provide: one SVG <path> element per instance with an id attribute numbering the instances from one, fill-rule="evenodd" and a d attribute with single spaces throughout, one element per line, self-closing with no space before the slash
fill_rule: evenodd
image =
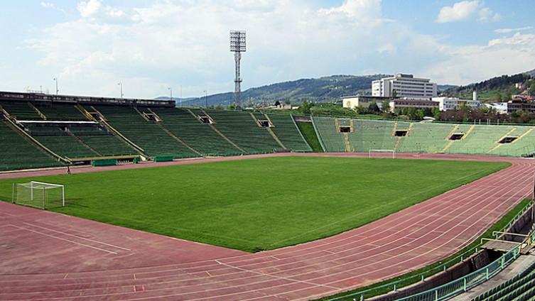
<path id="1" fill-rule="evenodd" d="M 531 195 L 530 159 L 418 158 L 512 166 L 360 228 L 254 254 L 0 202 L 0 300 L 313 299 L 440 261 Z"/>

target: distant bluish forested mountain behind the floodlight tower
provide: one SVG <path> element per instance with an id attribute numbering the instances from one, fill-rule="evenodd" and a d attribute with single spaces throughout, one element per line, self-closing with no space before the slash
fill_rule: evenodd
<path id="1" fill-rule="evenodd" d="M 247 89 L 242 92 L 242 104 L 274 103 L 277 100 L 284 102 L 289 100 L 293 103 L 302 102 L 332 102 L 340 100 L 345 95 L 370 94 L 372 80 L 389 75 L 333 75 L 328 77 L 293 80 L 291 82 L 279 82 L 262 87 Z M 189 106 L 229 105 L 234 103 L 234 93 L 227 92 L 198 97 L 183 102 Z"/>

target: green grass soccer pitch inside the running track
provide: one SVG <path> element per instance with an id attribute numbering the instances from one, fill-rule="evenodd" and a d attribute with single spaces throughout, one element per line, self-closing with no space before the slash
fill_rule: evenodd
<path id="1" fill-rule="evenodd" d="M 362 226 L 509 163 L 281 157 L 1 180 L 65 185 L 54 211 L 244 251 Z"/>

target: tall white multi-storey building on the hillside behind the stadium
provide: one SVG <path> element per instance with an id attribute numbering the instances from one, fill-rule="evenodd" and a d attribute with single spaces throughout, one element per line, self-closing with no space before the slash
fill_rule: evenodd
<path id="1" fill-rule="evenodd" d="M 398 73 L 393 77 L 384 77 L 372 82 L 372 96 L 394 97 L 394 91 L 396 97 L 431 99 L 437 95 L 435 82 L 413 75 Z"/>

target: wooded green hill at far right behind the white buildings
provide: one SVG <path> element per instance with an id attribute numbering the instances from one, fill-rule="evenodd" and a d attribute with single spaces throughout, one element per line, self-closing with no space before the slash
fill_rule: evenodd
<path id="1" fill-rule="evenodd" d="M 482 82 L 446 89 L 441 94 L 471 99 L 472 92 L 477 91 L 477 95 L 482 102 L 504 102 L 511 99 L 512 94 L 534 93 L 534 78 L 535 70 L 531 70 L 517 75 L 502 75 Z M 522 87 L 515 87 L 515 84 L 520 83 L 522 83 Z"/>

